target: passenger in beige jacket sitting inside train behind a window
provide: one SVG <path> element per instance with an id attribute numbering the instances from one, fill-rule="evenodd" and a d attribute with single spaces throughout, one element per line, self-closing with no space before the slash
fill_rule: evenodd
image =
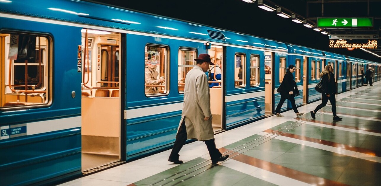
<path id="1" fill-rule="evenodd" d="M 146 85 L 159 85 L 164 82 L 164 76 L 159 77 L 159 73 L 156 70 L 156 65 L 146 65 L 144 68 L 144 80 Z M 146 86 L 146 94 L 161 93 L 160 87 Z"/>

